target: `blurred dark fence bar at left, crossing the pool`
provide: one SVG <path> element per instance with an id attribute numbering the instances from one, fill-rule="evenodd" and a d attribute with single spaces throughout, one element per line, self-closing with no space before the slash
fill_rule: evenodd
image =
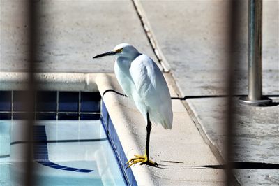
<path id="1" fill-rule="evenodd" d="M 24 110 L 26 113 L 24 113 L 26 120 L 24 120 L 24 129 L 22 130 L 22 133 L 24 134 L 24 138 L 27 139 L 27 145 L 25 149 L 26 159 L 24 162 L 24 180 L 22 180 L 22 185 L 28 185 L 32 186 L 34 183 L 36 183 L 35 176 L 33 176 L 34 167 L 33 167 L 33 125 L 35 124 L 35 115 L 34 115 L 34 106 L 35 106 L 35 92 L 36 92 L 36 78 L 34 76 L 35 74 L 35 61 L 36 61 L 36 55 L 38 54 L 38 28 L 40 27 L 38 25 L 38 1 L 35 0 L 29 0 L 26 1 L 27 8 L 28 8 L 28 19 L 27 19 L 27 25 L 29 26 L 29 45 L 28 47 L 28 56 L 27 56 L 27 66 L 28 66 L 28 76 L 27 76 L 27 94 L 22 93 L 22 98 L 27 100 L 26 103 L 24 103 Z"/>

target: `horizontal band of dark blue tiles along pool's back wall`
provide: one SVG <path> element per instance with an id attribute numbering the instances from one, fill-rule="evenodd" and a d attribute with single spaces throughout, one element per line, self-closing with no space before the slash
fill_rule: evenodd
<path id="1" fill-rule="evenodd" d="M 0 90 L 0 120 L 28 119 L 27 91 Z M 99 92 L 36 92 L 36 120 L 100 120 Z"/>

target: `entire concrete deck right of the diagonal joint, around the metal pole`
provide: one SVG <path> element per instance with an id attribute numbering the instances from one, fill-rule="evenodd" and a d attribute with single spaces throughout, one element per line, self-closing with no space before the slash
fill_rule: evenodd
<path id="1" fill-rule="evenodd" d="M 144 1 L 144 16 L 176 81 L 181 96 L 200 96 L 183 101 L 215 154 L 225 155 L 225 99 L 202 98 L 226 94 L 227 13 L 229 1 Z M 248 1 L 243 1 L 239 29 L 240 55 L 234 71 L 235 94 L 248 94 Z M 279 94 L 279 1 L 263 1 L 262 87 L 263 94 Z M 273 106 L 241 106 L 235 99 L 236 160 L 278 164 L 278 99 Z M 218 153 L 219 151 L 219 153 Z M 277 155 L 277 156 L 276 156 Z M 275 184 L 278 170 L 236 170 L 241 185 Z M 257 178 L 257 179 L 255 179 Z"/>

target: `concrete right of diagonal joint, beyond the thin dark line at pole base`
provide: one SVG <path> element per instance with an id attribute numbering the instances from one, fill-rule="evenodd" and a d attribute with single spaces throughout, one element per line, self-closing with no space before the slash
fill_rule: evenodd
<path id="1" fill-rule="evenodd" d="M 226 94 L 229 2 L 140 1 L 183 96 Z M 247 94 L 248 1 L 243 2 L 236 94 Z M 279 2 L 263 2 L 263 92 L 278 94 Z"/>

